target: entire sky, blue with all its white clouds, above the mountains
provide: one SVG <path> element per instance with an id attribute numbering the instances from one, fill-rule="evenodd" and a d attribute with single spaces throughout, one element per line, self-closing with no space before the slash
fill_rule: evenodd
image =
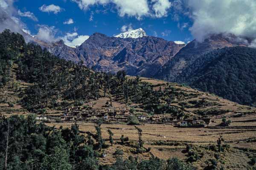
<path id="1" fill-rule="evenodd" d="M 256 46 L 256 0 L 0 0 L 0 10 L 38 39 L 70 46 L 95 32 L 113 36 L 136 28 L 183 42 L 233 34 Z"/>

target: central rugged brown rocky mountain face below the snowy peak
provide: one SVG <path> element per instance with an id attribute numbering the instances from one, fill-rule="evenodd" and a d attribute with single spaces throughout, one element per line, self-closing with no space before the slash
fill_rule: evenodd
<path id="1" fill-rule="evenodd" d="M 61 40 L 55 43 L 34 41 L 56 56 L 84 65 L 96 71 L 125 70 L 129 75 L 153 77 L 163 65 L 184 47 L 157 37 L 119 38 L 95 33 L 77 48 Z"/>

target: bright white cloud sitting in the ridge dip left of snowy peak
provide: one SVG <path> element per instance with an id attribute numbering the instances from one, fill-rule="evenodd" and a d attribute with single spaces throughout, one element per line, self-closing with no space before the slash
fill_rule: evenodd
<path id="1" fill-rule="evenodd" d="M 85 40 L 89 38 L 88 35 L 78 35 L 78 33 L 67 33 L 61 39 L 64 43 L 70 47 L 76 47 L 77 45 L 81 45 Z"/>

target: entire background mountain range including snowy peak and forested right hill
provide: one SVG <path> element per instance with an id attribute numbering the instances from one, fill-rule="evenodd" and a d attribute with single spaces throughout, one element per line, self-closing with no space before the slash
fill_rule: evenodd
<path id="1" fill-rule="evenodd" d="M 95 71 L 116 73 L 125 70 L 131 76 L 185 83 L 241 104 L 256 104 L 254 74 L 248 76 L 256 68 L 256 52 L 254 48 L 249 48 L 249 38 L 214 34 L 203 42 L 193 40 L 188 44 L 177 44 L 147 36 L 139 28 L 115 37 L 94 33 L 73 48 L 65 45 L 63 40 L 38 40 L 36 36 L 32 37 L 19 29 L 7 15 L 0 22 L 22 34 L 27 41 L 47 48 L 55 56 L 76 63 L 83 62 Z"/>

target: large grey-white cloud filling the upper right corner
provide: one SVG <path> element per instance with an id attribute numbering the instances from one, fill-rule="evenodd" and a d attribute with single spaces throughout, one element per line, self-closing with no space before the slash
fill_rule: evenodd
<path id="1" fill-rule="evenodd" d="M 256 38 L 255 0 L 185 0 L 193 20 L 192 35 L 203 41 L 210 34 Z"/>

